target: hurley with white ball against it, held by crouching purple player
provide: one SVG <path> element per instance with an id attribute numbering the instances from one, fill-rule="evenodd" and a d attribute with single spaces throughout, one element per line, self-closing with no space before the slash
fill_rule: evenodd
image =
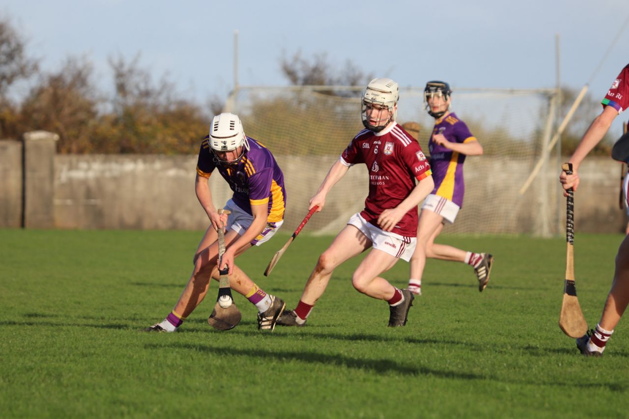
<path id="1" fill-rule="evenodd" d="M 219 215 L 229 214 L 229 210 L 218 210 Z M 240 323 L 242 314 L 236 307 L 231 297 L 230 277 L 228 275 L 229 268 L 223 268 L 223 254 L 225 254 L 225 226 L 218 228 L 218 271 L 220 273 L 220 282 L 218 285 L 218 298 L 214 304 L 214 310 L 208 318 L 211 327 L 218 330 L 230 330 Z"/>

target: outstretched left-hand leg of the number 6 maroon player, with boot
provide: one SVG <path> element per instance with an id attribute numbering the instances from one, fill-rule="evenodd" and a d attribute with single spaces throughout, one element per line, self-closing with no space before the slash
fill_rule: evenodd
<path id="1" fill-rule="evenodd" d="M 316 262 L 306 282 L 295 310 L 286 310 L 277 321 L 282 326 L 301 326 L 306 323 L 316 301 L 323 295 L 332 273 L 345 260 L 361 254 L 371 246 L 371 240 L 353 225 L 347 225 Z"/>

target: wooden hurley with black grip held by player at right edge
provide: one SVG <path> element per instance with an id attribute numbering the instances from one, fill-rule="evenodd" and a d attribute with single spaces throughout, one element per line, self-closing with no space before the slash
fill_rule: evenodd
<path id="1" fill-rule="evenodd" d="M 562 170 L 566 174 L 572 174 L 572 163 L 564 163 Z M 587 323 L 583 318 L 579 299 L 577 299 L 577 289 L 574 286 L 574 191 L 570 188 L 567 193 L 565 211 L 567 250 L 565 254 L 564 301 L 561 304 L 559 327 L 569 337 L 579 338 L 586 334 Z"/>

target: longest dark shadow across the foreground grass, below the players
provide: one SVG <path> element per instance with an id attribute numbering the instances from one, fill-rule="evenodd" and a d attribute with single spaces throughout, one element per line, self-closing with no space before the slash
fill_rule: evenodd
<path id="1" fill-rule="evenodd" d="M 212 355 L 231 355 L 259 357 L 264 359 L 277 360 L 297 360 L 308 364 L 321 364 L 325 366 L 343 366 L 352 369 L 360 369 L 364 371 L 377 372 L 378 374 L 402 374 L 405 376 L 430 375 L 440 378 L 452 379 L 484 379 L 484 376 L 477 374 L 467 374 L 454 371 L 440 371 L 427 367 L 418 367 L 415 365 L 401 364 L 390 359 L 360 359 L 347 357 L 345 355 L 327 355 L 319 352 L 311 351 L 270 351 L 264 349 L 235 349 L 225 347 L 213 347 L 210 345 L 192 345 L 192 344 L 147 344 L 146 349 L 187 349 L 200 352 L 208 352 Z"/>

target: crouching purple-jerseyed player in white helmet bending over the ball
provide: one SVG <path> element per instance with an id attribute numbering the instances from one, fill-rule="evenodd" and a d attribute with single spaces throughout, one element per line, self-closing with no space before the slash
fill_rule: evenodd
<path id="1" fill-rule="evenodd" d="M 233 191 L 225 208 L 230 215 L 219 215 L 212 202 L 208 178 L 216 169 Z M 274 329 L 284 310 L 284 301 L 265 293 L 240 268 L 234 259 L 250 247 L 269 240 L 284 220 L 286 190 L 284 175 L 276 160 L 262 144 L 245 136 L 238 116 L 214 116 L 209 135 L 203 139 L 196 176 L 196 195 L 211 225 L 194 254 L 194 271 L 179 301 L 166 318 L 147 328 L 147 332 L 175 332 L 208 292 L 209 281 L 218 281 L 218 228 L 226 226 L 223 266 L 229 267 L 231 288 L 257 307 L 258 328 Z"/>

